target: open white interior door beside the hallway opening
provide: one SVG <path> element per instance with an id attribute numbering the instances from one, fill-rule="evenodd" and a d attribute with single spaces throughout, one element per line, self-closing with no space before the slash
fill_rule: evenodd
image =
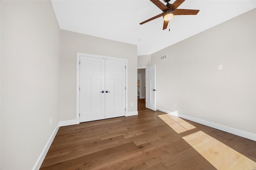
<path id="1" fill-rule="evenodd" d="M 156 111 L 156 65 L 146 67 L 146 108 Z"/>

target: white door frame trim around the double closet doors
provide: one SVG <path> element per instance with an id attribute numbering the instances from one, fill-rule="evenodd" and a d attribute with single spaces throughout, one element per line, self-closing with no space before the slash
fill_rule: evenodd
<path id="1" fill-rule="evenodd" d="M 95 58 L 104 58 L 104 59 L 113 59 L 113 60 L 119 60 L 119 61 L 125 61 L 126 69 L 125 69 L 125 116 L 128 115 L 128 59 L 124 58 L 117 58 L 117 57 L 108 57 L 103 55 L 94 55 L 94 54 L 87 54 L 87 53 L 76 53 L 76 124 L 80 123 L 80 56 L 86 56 L 86 57 L 95 57 Z"/>

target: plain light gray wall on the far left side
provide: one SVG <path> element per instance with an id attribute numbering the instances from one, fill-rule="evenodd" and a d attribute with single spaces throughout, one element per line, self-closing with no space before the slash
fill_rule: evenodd
<path id="1" fill-rule="evenodd" d="M 28 170 L 59 122 L 60 28 L 50 1 L 0 3 L 0 169 Z"/>

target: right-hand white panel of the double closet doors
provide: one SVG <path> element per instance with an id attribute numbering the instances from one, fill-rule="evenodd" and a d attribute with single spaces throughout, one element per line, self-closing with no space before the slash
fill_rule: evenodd
<path id="1" fill-rule="evenodd" d="M 125 116 L 125 61 L 105 60 L 105 119 Z"/>

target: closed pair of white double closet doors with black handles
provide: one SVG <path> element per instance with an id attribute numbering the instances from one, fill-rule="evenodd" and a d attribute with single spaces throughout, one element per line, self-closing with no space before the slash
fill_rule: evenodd
<path id="1" fill-rule="evenodd" d="M 126 62 L 80 56 L 80 122 L 125 116 Z"/>

